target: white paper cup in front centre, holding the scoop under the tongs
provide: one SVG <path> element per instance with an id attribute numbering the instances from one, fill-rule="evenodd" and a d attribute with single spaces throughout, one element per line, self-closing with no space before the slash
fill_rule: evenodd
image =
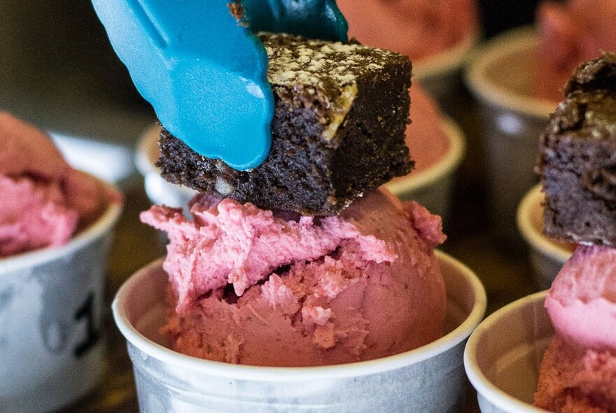
<path id="1" fill-rule="evenodd" d="M 447 285 L 447 332 L 396 356 L 322 367 L 256 367 L 167 349 L 167 274 L 161 260 L 118 291 L 113 315 L 127 338 L 141 412 L 458 412 L 465 398 L 462 353 L 486 308 L 470 269 L 437 252 Z"/>

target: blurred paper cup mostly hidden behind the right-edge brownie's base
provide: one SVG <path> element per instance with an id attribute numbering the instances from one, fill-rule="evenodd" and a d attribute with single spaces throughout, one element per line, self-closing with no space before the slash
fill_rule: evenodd
<path id="1" fill-rule="evenodd" d="M 533 266 L 535 285 L 545 290 L 573 253 L 574 244 L 554 241 L 543 235 L 544 200 L 541 185 L 534 186 L 522 198 L 517 211 L 517 226 L 530 246 L 528 252 Z"/>

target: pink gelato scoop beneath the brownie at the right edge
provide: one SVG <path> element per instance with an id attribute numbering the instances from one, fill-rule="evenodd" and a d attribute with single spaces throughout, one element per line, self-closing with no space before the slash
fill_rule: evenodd
<path id="1" fill-rule="evenodd" d="M 535 405 L 557 413 L 616 412 L 616 250 L 578 246 L 545 307 L 556 335 L 542 360 Z"/>

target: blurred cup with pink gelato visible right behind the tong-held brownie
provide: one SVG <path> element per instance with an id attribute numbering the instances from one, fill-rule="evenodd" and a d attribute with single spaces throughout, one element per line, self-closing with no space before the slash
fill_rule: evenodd
<path id="1" fill-rule="evenodd" d="M 410 95 L 412 123 L 407 126 L 406 143 L 415 167 L 386 187 L 401 200 L 419 202 L 447 223 L 454 174 L 465 153 L 464 134 L 419 85 L 411 87 Z"/>

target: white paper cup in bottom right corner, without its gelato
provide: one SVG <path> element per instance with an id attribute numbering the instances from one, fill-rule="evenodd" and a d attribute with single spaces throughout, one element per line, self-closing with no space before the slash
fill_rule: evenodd
<path id="1" fill-rule="evenodd" d="M 554 335 L 545 294 L 507 304 L 470 335 L 464 367 L 482 413 L 545 413 L 532 405 L 543 353 Z"/>

